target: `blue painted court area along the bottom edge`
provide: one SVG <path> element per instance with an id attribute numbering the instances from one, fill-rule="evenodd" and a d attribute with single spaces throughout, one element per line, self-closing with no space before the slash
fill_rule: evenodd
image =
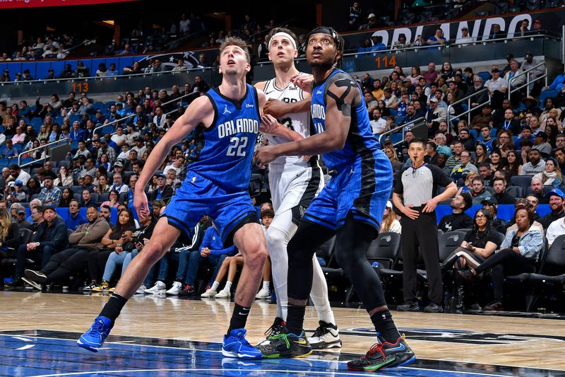
<path id="1" fill-rule="evenodd" d="M 0 376 L 516 376 L 511 370 L 485 373 L 480 366 L 443 361 L 353 373 L 345 366 L 352 355 L 339 352 L 319 352 L 304 359 L 241 361 L 223 357 L 218 343 L 141 337 L 110 337 L 93 354 L 76 347 L 76 337 L 72 332 L 46 330 L 0 334 Z"/>

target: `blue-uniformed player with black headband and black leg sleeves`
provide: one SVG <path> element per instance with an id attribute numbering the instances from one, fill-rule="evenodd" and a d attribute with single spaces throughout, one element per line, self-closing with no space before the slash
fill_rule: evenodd
<path id="1" fill-rule="evenodd" d="M 299 141 L 263 146 L 256 152 L 260 166 L 278 156 L 323 153 L 333 178 L 311 202 L 288 244 L 287 326 L 278 340 L 259 349 L 267 357 L 299 357 L 311 352 L 304 335 L 304 313 L 312 285 L 312 255 L 336 235 L 335 256 L 377 332 L 369 352 L 347 363 L 352 371 L 377 371 L 407 365 L 416 356 L 401 337 L 386 306 L 381 281 L 365 257 L 376 238 L 391 195 L 391 163 L 371 133 L 361 88 L 340 68 L 343 38 L 332 28 L 316 28 L 307 37 L 307 60 L 313 85 L 303 76 L 295 83 L 310 90 L 315 135 Z M 296 109 L 295 109 L 296 110 Z"/>

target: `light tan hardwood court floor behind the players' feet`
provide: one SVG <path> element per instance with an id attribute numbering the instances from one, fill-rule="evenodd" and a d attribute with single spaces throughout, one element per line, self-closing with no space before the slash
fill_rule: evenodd
<path id="1" fill-rule="evenodd" d="M 83 332 L 106 301 L 102 294 L 0 291 L 0 331 Z M 133 296 L 112 335 L 221 342 L 232 307 L 233 303 L 220 299 Z M 263 339 L 275 309 L 267 302 L 254 304 L 247 323 L 252 344 Z M 367 313 L 352 308 L 334 310 L 343 340 L 341 352 L 366 352 L 374 342 Z M 565 371 L 564 320 L 397 311 L 393 316 L 419 359 Z M 317 325 L 316 312 L 309 307 L 305 327 L 314 330 Z"/>

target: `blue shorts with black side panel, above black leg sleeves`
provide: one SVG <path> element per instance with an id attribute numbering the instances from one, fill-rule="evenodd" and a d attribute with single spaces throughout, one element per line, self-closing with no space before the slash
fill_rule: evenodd
<path id="1" fill-rule="evenodd" d="M 340 169 L 312 200 L 303 219 L 335 231 L 343 226 L 351 211 L 355 220 L 379 231 L 392 185 L 391 161 L 382 151 L 358 156 L 351 166 Z"/>

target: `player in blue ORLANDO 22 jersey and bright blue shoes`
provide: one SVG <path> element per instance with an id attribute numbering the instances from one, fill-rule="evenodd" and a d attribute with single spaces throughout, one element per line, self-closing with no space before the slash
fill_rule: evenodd
<path id="1" fill-rule="evenodd" d="M 227 38 L 220 46 L 221 85 L 196 98 L 151 152 L 135 189 L 134 205 L 141 218 L 149 215 L 143 189 L 172 147 L 194 129 L 196 138 L 203 144 L 196 161 L 188 166 L 182 186 L 157 222 L 149 243 L 132 260 L 90 330 L 78 340 L 80 347 L 98 351 L 121 308 L 141 285 L 150 267 L 167 253 L 177 238 L 191 239 L 191 229 L 203 214 L 208 214 L 220 228 L 225 245 L 235 243 L 244 257 L 222 354 L 242 359 L 261 358 L 261 352 L 245 339 L 244 330 L 267 257 L 265 236 L 248 187 L 259 124 L 263 122 L 262 132 L 275 134 L 277 128 L 284 127 L 270 115 L 261 117 L 266 98 L 262 91 L 245 82 L 251 68 L 249 62 L 245 42 Z"/>

